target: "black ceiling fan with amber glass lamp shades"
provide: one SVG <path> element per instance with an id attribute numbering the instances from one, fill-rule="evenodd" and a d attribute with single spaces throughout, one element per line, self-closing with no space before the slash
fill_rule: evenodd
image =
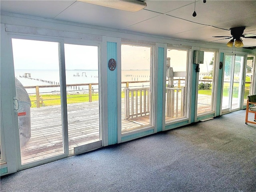
<path id="1" fill-rule="evenodd" d="M 244 46 L 244 44 L 242 42 L 243 41 L 242 38 L 254 38 L 254 39 L 256 39 L 255 34 L 243 34 L 244 30 L 245 30 L 245 27 L 233 27 L 233 28 L 230 28 L 230 33 L 232 35 L 231 37 L 230 36 L 213 36 L 213 37 L 226 37 L 226 38 L 223 38 L 223 39 L 232 38 L 227 43 L 228 47 L 232 47 L 234 42 L 235 42 L 235 47 L 242 47 L 242 46 Z M 219 39 L 219 40 L 222 40 L 222 39 Z M 218 41 L 218 40 L 216 40 L 216 41 Z"/>

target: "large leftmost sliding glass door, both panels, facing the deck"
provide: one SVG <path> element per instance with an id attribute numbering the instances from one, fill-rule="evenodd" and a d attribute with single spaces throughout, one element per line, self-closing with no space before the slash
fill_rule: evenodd
<path id="1" fill-rule="evenodd" d="M 19 168 L 102 146 L 98 49 L 12 38 Z"/>

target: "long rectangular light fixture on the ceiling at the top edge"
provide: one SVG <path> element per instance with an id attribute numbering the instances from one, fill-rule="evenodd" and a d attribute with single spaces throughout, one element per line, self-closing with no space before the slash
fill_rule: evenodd
<path id="1" fill-rule="evenodd" d="M 147 6 L 143 1 L 139 0 L 79 0 L 82 2 L 114 8 L 118 10 L 136 12 Z"/>

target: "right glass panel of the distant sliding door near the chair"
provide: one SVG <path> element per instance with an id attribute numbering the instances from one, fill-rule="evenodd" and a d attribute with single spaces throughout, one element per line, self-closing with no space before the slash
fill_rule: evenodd
<path id="1" fill-rule="evenodd" d="M 240 108 L 240 98 L 242 96 L 242 71 L 243 71 L 244 57 L 243 56 L 235 56 L 234 63 L 234 77 L 232 84 L 232 105 L 231 110 Z"/>

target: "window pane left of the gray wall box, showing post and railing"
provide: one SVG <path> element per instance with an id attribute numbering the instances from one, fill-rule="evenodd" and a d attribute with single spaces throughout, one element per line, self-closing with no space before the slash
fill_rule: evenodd
<path id="1" fill-rule="evenodd" d="M 186 117 L 188 50 L 167 49 L 165 122 Z"/>

